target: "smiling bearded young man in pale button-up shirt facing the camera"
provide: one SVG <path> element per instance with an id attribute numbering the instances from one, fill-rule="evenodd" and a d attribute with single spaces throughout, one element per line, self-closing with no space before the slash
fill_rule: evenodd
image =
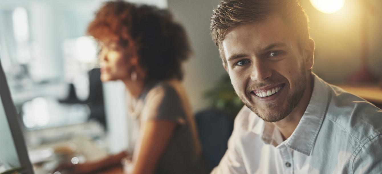
<path id="1" fill-rule="evenodd" d="M 296 0 L 224 0 L 211 32 L 246 105 L 212 173 L 382 172 L 382 111 L 312 73 Z"/>

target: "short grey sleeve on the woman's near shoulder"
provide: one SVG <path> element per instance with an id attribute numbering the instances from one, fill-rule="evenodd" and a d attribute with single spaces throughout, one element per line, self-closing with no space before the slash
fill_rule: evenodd
<path id="1" fill-rule="evenodd" d="M 165 119 L 184 124 L 183 103 L 175 89 L 166 84 L 154 87 L 147 94 L 142 111 L 143 119 Z"/>

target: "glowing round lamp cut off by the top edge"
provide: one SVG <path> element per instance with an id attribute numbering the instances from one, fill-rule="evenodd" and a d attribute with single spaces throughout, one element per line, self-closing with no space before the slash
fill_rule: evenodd
<path id="1" fill-rule="evenodd" d="M 345 0 L 310 0 L 310 2 L 322 13 L 335 13 L 345 4 Z"/>

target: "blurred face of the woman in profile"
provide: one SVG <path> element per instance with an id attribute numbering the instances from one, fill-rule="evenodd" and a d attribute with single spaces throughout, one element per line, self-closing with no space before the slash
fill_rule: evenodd
<path id="1" fill-rule="evenodd" d="M 102 44 L 99 54 L 101 80 L 126 80 L 129 78 L 127 60 L 123 49 L 115 42 Z"/>

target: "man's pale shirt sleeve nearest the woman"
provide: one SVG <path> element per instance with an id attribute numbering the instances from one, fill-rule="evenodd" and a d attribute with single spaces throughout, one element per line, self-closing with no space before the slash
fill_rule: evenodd
<path id="1" fill-rule="evenodd" d="M 220 163 L 215 167 L 211 174 L 244 174 L 247 173 L 243 158 L 241 156 L 240 148 L 240 135 L 241 135 L 241 118 L 248 114 L 244 112 L 245 106 L 235 119 L 235 125 L 233 128 L 232 135 L 228 140 L 228 149 L 225 152 L 223 158 L 220 160 Z M 248 108 L 247 108 L 248 109 Z"/>

